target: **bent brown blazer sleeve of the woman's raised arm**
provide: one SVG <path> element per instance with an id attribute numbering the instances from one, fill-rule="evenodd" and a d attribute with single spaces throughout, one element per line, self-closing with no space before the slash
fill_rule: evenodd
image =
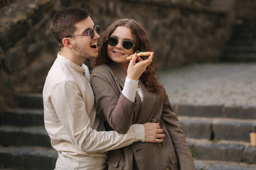
<path id="1" fill-rule="evenodd" d="M 126 133 L 132 125 L 136 103 L 122 94 L 122 89 L 112 73 L 94 69 L 91 75 L 92 89 L 95 93 L 97 115 L 112 129 Z"/>

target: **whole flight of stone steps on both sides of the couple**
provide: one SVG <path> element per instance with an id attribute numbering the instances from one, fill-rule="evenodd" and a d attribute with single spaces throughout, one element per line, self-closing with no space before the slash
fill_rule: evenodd
<path id="1" fill-rule="evenodd" d="M 0 169 L 1 166 L 14 169 L 16 167 L 36 169 L 38 160 L 41 159 L 44 166 L 40 168 L 53 169 L 58 156 L 50 146 L 50 139 L 43 127 L 41 94 L 20 95 L 18 103 L 19 107 L 23 107 L 2 113 L 0 145 L 4 147 L 0 147 L 0 160 L 4 155 L 3 157 L 9 162 L 5 159 L 0 161 Z M 174 105 L 174 110 L 181 121 L 181 128 L 188 137 L 188 145 L 196 161 L 256 164 L 255 149 L 250 147 L 249 134 L 244 133 L 256 128 L 254 121 L 250 120 L 256 120 L 256 106 L 245 108 L 179 103 Z M 40 149 L 34 150 L 31 146 Z M 53 154 L 42 154 L 42 152 L 47 153 L 48 149 Z M 209 153 L 208 156 L 206 153 Z M 45 157 L 45 155 L 54 155 L 54 157 Z M 206 164 L 205 169 L 221 169 L 221 167 L 224 169 L 241 167 L 242 169 L 244 166 L 225 166 L 225 164 L 214 163 Z"/>

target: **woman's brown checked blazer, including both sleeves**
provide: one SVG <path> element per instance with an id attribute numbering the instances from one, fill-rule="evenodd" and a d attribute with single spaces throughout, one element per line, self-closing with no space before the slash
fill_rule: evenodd
<path id="1" fill-rule="evenodd" d="M 122 94 L 126 74 L 115 63 L 102 64 L 92 70 L 91 84 L 95 92 L 96 112 L 105 121 L 107 130 L 125 133 L 134 123 L 143 124 L 156 120 L 164 130 L 161 145 L 150 142 L 134 142 L 132 145 L 110 151 L 109 169 L 196 169 L 186 137 L 169 97 L 154 94 L 142 88 L 144 101 L 136 94 L 135 103 Z M 137 168 L 134 167 L 137 164 Z"/>

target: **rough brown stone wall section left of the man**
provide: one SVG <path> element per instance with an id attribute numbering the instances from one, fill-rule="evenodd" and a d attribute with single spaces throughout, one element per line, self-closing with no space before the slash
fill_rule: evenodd
<path id="1" fill-rule="evenodd" d="M 35 3 L 36 2 L 36 3 Z M 22 91 L 41 91 L 58 46 L 48 29 L 50 0 L 16 0 L 0 10 L 0 110 Z"/>

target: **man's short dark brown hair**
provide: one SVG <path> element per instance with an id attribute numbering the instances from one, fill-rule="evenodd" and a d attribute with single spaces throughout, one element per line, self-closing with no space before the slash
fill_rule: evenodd
<path id="1" fill-rule="evenodd" d="M 62 40 L 75 32 L 75 23 L 78 23 L 90 16 L 90 13 L 83 8 L 70 7 L 58 11 L 50 21 L 50 29 L 53 32 L 60 47 L 63 47 Z"/>

